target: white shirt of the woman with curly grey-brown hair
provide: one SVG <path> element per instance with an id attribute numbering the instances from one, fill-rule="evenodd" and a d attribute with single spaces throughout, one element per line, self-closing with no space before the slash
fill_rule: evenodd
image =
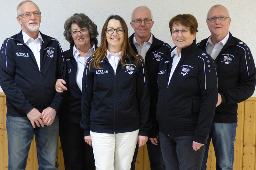
<path id="1" fill-rule="evenodd" d="M 79 56 L 80 52 L 76 49 L 76 46 L 74 44 L 73 46 L 73 55 L 77 63 L 77 71 L 76 71 L 76 84 L 78 85 L 79 89 L 82 91 L 82 78 L 84 73 L 84 66 L 88 58 L 92 55 L 92 53 L 95 51 L 95 45 L 93 43 L 93 46 L 85 57 Z"/>

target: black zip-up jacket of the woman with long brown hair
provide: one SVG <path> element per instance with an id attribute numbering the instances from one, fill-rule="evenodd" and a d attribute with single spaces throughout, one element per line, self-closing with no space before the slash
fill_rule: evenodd
<path id="1" fill-rule="evenodd" d="M 129 55 L 132 57 L 132 55 Z M 140 129 L 139 135 L 148 136 L 149 122 L 148 79 L 144 62 L 134 65 L 118 63 L 116 73 L 105 57 L 103 69 L 89 69 L 88 61 L 82 81 L 82 119 L 84 136 L 90 130 L 98 133 L 124 133 Z"/>

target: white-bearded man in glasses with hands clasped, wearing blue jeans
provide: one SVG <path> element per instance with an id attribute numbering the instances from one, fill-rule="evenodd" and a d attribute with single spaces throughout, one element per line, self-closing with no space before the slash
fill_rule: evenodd
<path id="1" fill-rule="evenodd" d="M 26 168 L 35 135 L 39 169 L 58 169 L 56 162 L 59 109 L 63 93 L 55 81 L 63 78 L 60 43 L 39 32 L 41 12 L 32 1 L 17 7 L 20 33 L 4 40 L 0 52 L 0 84 L 6 95 L 8 169 Z"/>

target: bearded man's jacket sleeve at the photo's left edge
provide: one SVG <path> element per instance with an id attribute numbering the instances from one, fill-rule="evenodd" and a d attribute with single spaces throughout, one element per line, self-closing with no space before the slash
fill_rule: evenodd
<path id="1" fill-rule="evenodd" d="M 34 107 L 14 81 L 16 61 L 13 48 L 15 48 L 13 38 L 5 39 L 0 52 L 0 84 L 12 105 L 27 114 Z"/>

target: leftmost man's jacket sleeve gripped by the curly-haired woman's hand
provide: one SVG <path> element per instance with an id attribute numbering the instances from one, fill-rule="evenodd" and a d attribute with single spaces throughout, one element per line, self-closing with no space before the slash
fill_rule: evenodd
<path id="1" fill-rule="evenodd" d="M 57 41 L 55 39 L 53 39 L 52 41 Z M 57 49 L 58 49 L 58 53 L 57 53 L 57 62 L 56 62 L 56 80 L 61 78 L 64 79 L 67 82 L 68 79 L 68 75 L 67 75 L 67 70 L 66 70 L 66 60 L 64 59 L 64 55 L 63 55 L 63 51 L 62 48 L 60 47 L 60 43 L 59 41 L 57 41 Z M 55 90 L 55 89 L 54 89 Z M 63 93 L 59 93 L 55 91 L 55 95 L 54 98 L 52 100 L 52 103 L 50 104 L 49 107 L 52 107 L 54 110 L 59 110 L 61 102 L 64 98 L 64 96 L 66 95 L 66 92 Z"/>

